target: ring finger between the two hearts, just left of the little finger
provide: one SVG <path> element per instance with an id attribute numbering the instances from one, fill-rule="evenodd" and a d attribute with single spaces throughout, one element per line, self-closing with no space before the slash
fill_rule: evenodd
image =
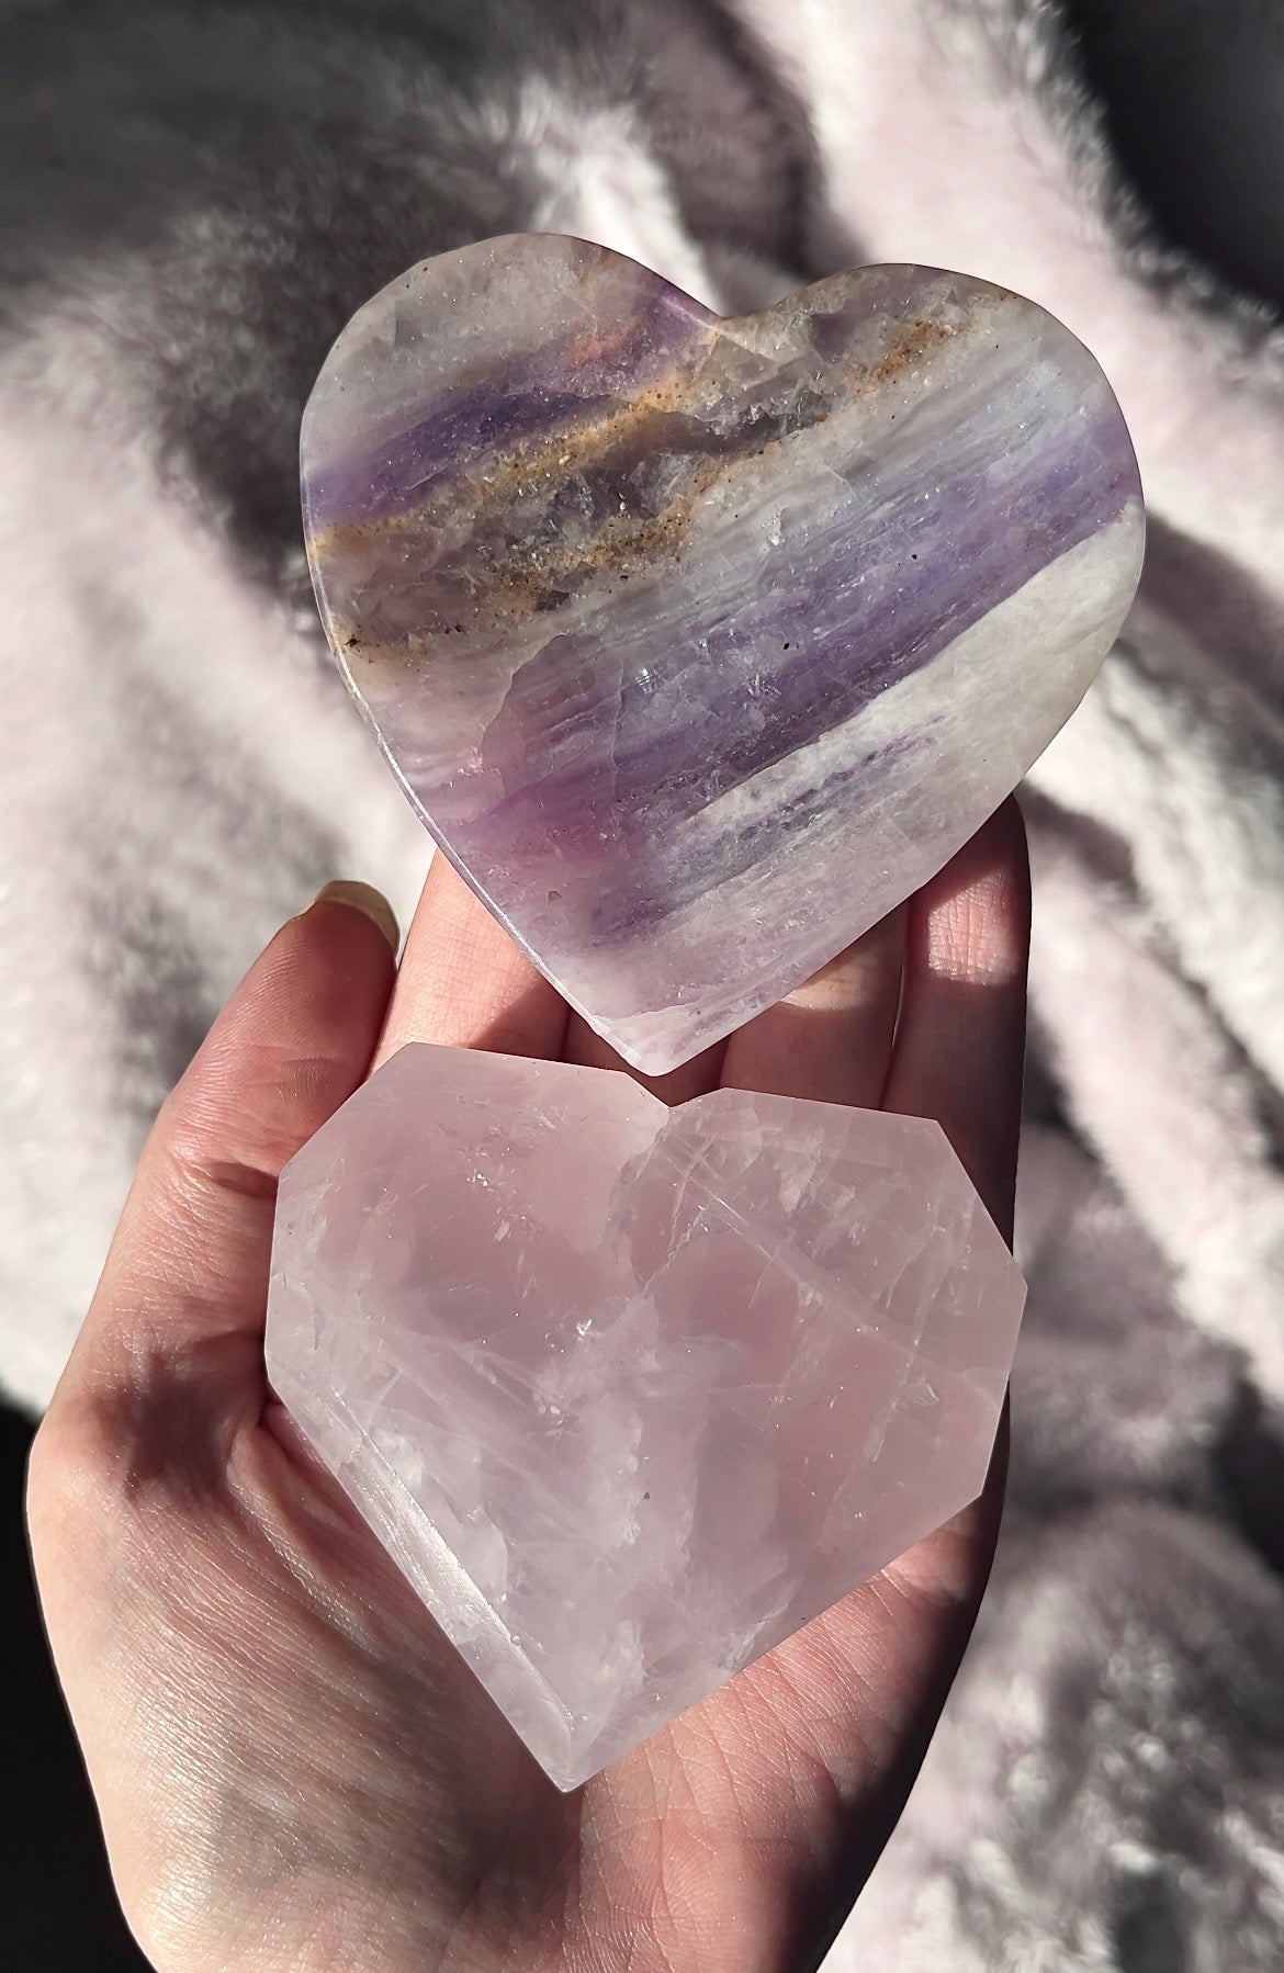
<path id="1" fill-rule="evenodd" d="M 901 908 L 732 1036 L 724 1087 L 876 1107 L 888 1079 L 903 955 Z"/>

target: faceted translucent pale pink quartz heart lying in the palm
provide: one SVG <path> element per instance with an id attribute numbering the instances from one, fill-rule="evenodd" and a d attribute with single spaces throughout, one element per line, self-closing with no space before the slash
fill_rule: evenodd
<path id="1" fill-rule="evenodd" d="M 282 1174 L 266 1352 L 574 1788 L 978 1494 L 1024 1294 L 935 1123 L 410 1046 Z"/>

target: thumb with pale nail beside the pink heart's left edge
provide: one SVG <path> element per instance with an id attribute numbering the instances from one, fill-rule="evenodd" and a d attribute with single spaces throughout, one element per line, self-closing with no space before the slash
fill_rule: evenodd
<path id="1" fill-rule="evenodd" d="M 247 1338 L 258 1363 L 276 1180 L 363 1079 L 396 921 L 335 886 L 258 955 L 144 1146 L 65 1385 Z"/>

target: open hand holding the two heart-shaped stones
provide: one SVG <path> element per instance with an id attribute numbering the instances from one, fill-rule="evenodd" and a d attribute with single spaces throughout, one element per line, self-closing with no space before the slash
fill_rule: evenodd
<path id="1" fill-rule="evenodd" d="M 909 906 L 649 1087 L 937 1117 L 1010 1233 L 1026 943 L 1006 803 Z M 367 915 L 318 900 L 166 1101 L 36 1436 L 39 1594 L 126 1918 L 164 1973 L 817 1965 L 959 1665 L 1004 1434 L 972 1507 L 560 1795 L 264 1377 L 280 1168 L 408 1040 L 619 1065 L 446 858 L 400 973 Z"/>

